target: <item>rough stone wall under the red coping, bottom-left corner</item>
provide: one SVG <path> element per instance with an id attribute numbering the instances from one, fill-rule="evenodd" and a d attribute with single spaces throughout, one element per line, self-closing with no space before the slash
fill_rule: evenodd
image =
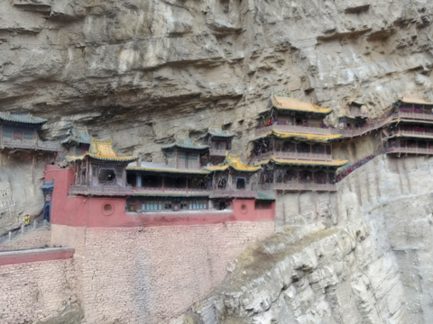
<path id="1" fill-rule="evenodd" d="M 73 263 L 68 258 L 0 266 L 0 323 L 50 319 L 77 302 Z"/>

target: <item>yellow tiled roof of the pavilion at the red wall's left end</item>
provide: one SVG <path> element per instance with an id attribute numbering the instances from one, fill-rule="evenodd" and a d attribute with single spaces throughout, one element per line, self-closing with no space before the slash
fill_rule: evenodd
<path id="1" fill-rule="evenodd" d="M 82 156 L 67 156 L 66 160 L 71 162 L 78 159 L 83 159 L 85 156 L 106 160 L 106 161 L 134 161 L 137 157 L 134 156 L 119 156 L 113 149 L 113 139 L 93 139 L 90 143 L 88 153 Z"/>

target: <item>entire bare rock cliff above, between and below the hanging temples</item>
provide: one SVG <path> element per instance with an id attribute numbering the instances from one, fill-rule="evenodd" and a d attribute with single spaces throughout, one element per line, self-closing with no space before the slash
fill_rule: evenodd
<path id="1" fill-rule="evenodd" d="M 0 0 L 0 8 L 0 112 L 48 119 L 48 140 L 87 126 L 143 161 L 164 162 L 161 146 L 177 132 L 198 139 L 222 125 L 251 162 L 256 116 L 274 92 L 333 108 L 334 126 L 350 100 L 370 118 L 397 95 L 433 100 L 428 0 Z M 373 136 L 337 143 L 336 157 L 371 154 Z M 41 211 L 53 158 L 0 160 L 0 189 L 11 191 L 19 217 Z M 432 323 L 432 170 L 429 158 L 379 156 L 337 193 L 279 193 L 277 233 L 170 324 Z M 0 234 L 18 223 L 1 213 Z M 81 321 L 68 310 L 65 322 Z M 169 318 L 158 316 L 148 322 Z"/>

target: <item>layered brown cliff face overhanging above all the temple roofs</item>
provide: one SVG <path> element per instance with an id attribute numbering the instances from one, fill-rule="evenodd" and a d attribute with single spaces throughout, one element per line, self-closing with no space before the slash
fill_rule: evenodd
<path id="1" fill-rule="evenodd" d="M 177 130 L 248 134 L 274 91 L 380 115 L 433 99 L 428 1 L 2 0 L 0 103 L 161 161 Z M 336 114 L 329 122 L 336 121 Z"/>

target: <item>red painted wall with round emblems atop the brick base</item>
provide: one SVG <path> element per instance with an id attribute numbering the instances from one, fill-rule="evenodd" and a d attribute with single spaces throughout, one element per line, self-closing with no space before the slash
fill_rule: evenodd
<path id="1" fill-rule="evenodd" d="M 269 210 L 255 210 L 254 200 L 235 200 L 233 211 L 178 211 L 167 213 L 129 213 L 125 198 L 68 197 L 73 183 L 73 170 L 59 166 L 45 168 L 45 180 L 54 179 L 51 223 L 75 227 L 114 228 L 164 225 L 216 224 L 226 221 L 260 221 L 274 219 L 274 203 Z M 104 212 L 106 203 L 112 210 Z M 243 208 L 243 206 L 245 206 Z M 108 214 L 109 213 L 109 214 Z"/>

